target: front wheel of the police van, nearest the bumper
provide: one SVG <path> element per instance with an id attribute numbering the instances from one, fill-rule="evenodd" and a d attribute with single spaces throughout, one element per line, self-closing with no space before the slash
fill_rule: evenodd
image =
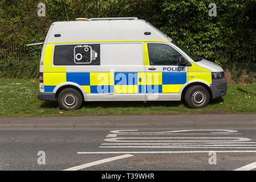
<path id="1" fill-rule="evenodd" d="M 208 105 L 210 94 L 204 86 L 191 86 L 185 93 L 186 105 L 190 108 L 202 108 Z"/>

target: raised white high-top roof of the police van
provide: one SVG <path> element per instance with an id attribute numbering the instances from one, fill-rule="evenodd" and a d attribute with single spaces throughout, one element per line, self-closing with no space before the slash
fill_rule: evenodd
<path id="1" fill-rule="evenodd" d="M 151 35 L 145 35 L 145 32 L 151 32 Z M 55 37 L 56 34 L 60 36 Z M 150 23 L 136 17 L 90 18 L 52 23 L 47 43 L 111 41 L 171 42 L 172 39 Z"/>

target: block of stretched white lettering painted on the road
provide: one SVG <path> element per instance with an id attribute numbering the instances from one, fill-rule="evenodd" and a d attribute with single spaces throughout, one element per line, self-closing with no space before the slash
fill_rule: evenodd
<path id="1" fill-rule="evenodd" d="M 195 133 L 194 131 L 201 131 Z M 173 130 L 139 132 L 138 130 L 113 130 L 101 143 L 100 148 L 256 148 L 250 138 L 239 137 L 193 137 L 191 135 L 234 135 L 237 130 Z M 117 135 L 123 135 L 117 137 Z M 124 135 L 141 135 L 129 137 Z M 149 136 L 145 136 L 149 135 Z M 150 135 L 153 135 L 152 137 Z M 154 135 L 188 135 L 184 137 L 157 137 Z M 190 135 L 190 136 L 189 136 Z"/>

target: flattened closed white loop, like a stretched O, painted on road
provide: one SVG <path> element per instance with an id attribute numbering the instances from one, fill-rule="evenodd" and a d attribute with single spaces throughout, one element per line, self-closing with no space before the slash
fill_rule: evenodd
<path id="1" fill-rule="evenodd" d="M 129 140 L 129 139 L 138 139 L 138 140 Z M 150 139 L 150 140 L 146 140 L 146 139 Z M 161 139 L 161 140 L 157 140 L 157 139 Z M 163 140 L 163 139 L 174 139 L 174 140 Z M 194 139 L 194 140 L 175 140 L 175 139 Z M 198 139 L 203 139 L 203 140 L 198 140 Z M 206 140 L 206 139 L 210 139 L 210 140 Z M 222 140 L 213 140 L 213 139 L 222 139 Z M 246 141 L 250 141 L 251 139 L 237 138 L 237 137 L 125 137 L 125 138 L 106 138 L 104 140 L 107 142 L 246 142 Z"/>

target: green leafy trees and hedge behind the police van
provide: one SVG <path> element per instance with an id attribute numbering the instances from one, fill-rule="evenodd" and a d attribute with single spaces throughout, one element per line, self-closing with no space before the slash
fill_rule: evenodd
<path id="1" fill-rule="evenodd" d="M 46 5 L 46 16 L 37 15 L 38 3 Z M 209 3 L 217 5 L 210 17 Z M 256 0 L 1 0 L 0 44 L 15 44 L 26 50 L 21 61 L 0 54 L 0 77 L 38 77 L 42 46 L 50 24 L 79 17 L 136 16 L 159 28 L 170 38 L 232 73 L 236 82 L 256 77 Z M 244 75 L 246 77 L 243 77 Z"/>

